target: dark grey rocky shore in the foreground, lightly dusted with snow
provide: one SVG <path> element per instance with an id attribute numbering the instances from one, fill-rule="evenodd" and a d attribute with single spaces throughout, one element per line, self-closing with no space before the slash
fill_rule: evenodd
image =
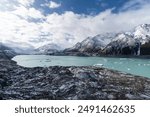
<path id="1" fill-rule="evenodd" d="M 0 99 L 150 99 L 150 79 L 97 67 L 24 68 L 0 59 Z"/>

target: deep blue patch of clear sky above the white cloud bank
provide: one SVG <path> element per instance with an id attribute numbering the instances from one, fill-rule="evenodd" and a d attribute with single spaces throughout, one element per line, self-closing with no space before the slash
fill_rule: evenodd
<path id="1" fill-rule="evenodd" d="M 51 0 L 45 0 L 51 1 Z M 99 14 L 106 9 L 114 8 L 113 12 L 118 12 L 120 8 L 129 0 L 53 0 L 57 4 L 61 4 L 60 7 L 49 9 L 48 7 L 41 7 L 41 4 L 45 3 L 44 0 L 36 0 L 34 7 L 37 9 L 44 9 L 46 14 L 48 13 L 64 13 L 65 11 L 73 11 L 77 14 Z"/>

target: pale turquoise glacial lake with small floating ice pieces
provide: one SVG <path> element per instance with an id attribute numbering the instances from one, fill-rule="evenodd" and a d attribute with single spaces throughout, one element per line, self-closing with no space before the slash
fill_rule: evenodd
<path id="1" fill-rule="evenodd" d="M 150 78 L 150 59 L 19 55 L 13 60 L 24 67 L 97 66 Z"/>

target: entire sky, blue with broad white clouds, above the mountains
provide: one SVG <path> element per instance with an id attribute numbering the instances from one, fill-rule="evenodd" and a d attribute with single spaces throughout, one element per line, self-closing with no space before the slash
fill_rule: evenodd
<path id="1" fill-rule="evenodd" d="M 150 23 L 150 0 L 0 0 L 0 42 L 71 47 Z"/>

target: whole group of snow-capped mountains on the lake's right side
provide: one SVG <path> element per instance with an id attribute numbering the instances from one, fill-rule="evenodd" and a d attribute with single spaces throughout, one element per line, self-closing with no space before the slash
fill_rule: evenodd
<path id="1" fill-rule="evenodd" d="M 137 26 L 132 32 L 106 33 L 78 42 L 65 52 L 95 55 L 147 55 L 150 54 L 150 24 Z"/>

